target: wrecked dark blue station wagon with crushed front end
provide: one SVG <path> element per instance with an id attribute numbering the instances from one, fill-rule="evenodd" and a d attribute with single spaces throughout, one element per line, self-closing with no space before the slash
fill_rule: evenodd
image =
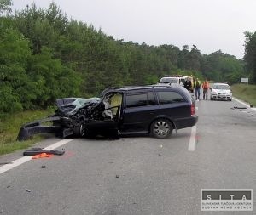
<path id="1" fill-rule="evenodd" d="M 191 94 L 176 84 L 108 88 L 101 98 L 57 99 L 56 105 L 55 115 L 22 126 L 18 140 L 36 133 L 55 133 L 61 138 L 99 134 L 113 139 L 150 133 L 167 138 L 173 129 L 192 127 L 198 120 Z"/>

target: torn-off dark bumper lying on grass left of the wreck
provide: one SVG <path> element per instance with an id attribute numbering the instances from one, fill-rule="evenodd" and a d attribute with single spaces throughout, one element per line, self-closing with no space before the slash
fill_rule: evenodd
<path id="1" fill-rule="evenodd" d="M 55 133 L 56 135 L 59 136 L 64 136 L 64 134 L 67 133 L 67 131 L 64 132 L 63 127 L 61 126 L 45 126 L 42 123 L 43 122 L 57 122 L 60 121 L 59 116 L 54 116 L 54 117 L 48 117 L 40 121 L 35 121 L 35 122 L 30 122 L 27 123 L 26 125 L 23 125 L 20 127 L 20 132 L 18 134 L 17 140 L 22 141 L 29 139 L 32 137 L 34 134 L 38 133 Z"/>

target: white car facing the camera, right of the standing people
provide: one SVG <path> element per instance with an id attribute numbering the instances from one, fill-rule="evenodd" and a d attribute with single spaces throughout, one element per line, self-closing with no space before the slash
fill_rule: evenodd
<path id="1" fill-rule="evenodd" d="M 214 83 L 211 88 L 211 100 L 215 99 L 224 99 L 224 100 L 232 100 L 232 92 L 230 89 L 230 85 L 227 83 Z"/>

